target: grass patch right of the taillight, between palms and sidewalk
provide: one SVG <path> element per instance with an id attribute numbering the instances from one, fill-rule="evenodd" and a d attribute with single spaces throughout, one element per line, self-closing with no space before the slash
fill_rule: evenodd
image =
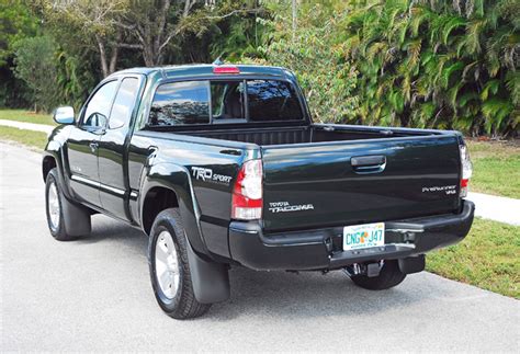
<path id="1" fill-rule="evenodd" d="M 520 145 L 470 141 L 473 176 L 470 191 L 520 198 Z"/>

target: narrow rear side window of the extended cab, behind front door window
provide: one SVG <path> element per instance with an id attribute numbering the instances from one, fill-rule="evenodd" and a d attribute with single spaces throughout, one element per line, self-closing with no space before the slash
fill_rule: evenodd
<path id="1" fill-rule="evenodd" d="M 139 89 L 138 83 L 139 80 L 137 78 L 125 78 L 121 82 L 110 114 L 109 127 L 111 129 L 128 126 Z"/>

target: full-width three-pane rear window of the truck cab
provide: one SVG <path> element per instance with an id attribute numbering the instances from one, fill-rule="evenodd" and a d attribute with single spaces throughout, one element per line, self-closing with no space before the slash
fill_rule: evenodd
<path id="1" fill-rule="evenodd" d="M 183 81 L 165 83 L 157 89 L 148 125 L 301 119 L 297 94 L 284 81 Z"/>

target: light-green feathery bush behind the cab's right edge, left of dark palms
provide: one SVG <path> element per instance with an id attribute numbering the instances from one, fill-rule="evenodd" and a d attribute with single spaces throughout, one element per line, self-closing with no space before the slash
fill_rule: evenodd
<path id="1" fill-rule="evenodd" d="M 268 9 L 273 19 L 260 21 L 271 28 L 271 35 L 261 48 L 265 60 L 257 61 L 294 70 L 316 121 L 355 122 L 357 72 L 338 36 L 348 7 L 342 2 L 302 4 L 294 38 L 287 3 L 273 2 Z"/>

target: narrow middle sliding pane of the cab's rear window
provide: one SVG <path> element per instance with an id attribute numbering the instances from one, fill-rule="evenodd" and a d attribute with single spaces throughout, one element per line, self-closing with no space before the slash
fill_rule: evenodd
<path id="1" fill-rule="evenodd" d="M 213 122 L 246 118 L 242 81 L 212 81 L 211 91 Z"/>

